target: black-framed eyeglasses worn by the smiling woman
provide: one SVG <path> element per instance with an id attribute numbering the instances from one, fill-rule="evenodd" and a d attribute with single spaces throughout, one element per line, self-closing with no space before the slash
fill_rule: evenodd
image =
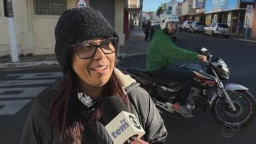
<path id="1" fill-rule="evenodd" d="M 94 57 L 97 48 L 100 48 L 101 51 L 105 54 L 111 54 L 114 53 L 117 47 L 117 38 L 111 37 L 109 39 L 105 39 L 102 41 L 99 45 L 95 45 L 95 43 L 84 43 L 81 46 L 75 47 L 75 51 L 77 55 L 81 59 L 89 59 L 91 57 Z"/>

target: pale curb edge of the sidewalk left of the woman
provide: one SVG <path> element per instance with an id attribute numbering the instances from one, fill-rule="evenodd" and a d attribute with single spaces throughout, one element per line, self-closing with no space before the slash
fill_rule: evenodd
<path id="1" fill-rule="evenodd" d="M 58 65 L 57 61 L 37 61 L 37 62 L 20 62 L 20 63 L 0 63 L 0 68 L 13 67 L 35 67 L 38 65 Z"/>

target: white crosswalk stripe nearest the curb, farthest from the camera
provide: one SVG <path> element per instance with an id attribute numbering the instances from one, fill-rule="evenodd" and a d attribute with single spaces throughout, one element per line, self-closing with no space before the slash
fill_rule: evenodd
<path id="1" fill-rule="evenodd" d="M 51 77 L 62 77 L 63 73 L 53 72 L 53 73 L 21 73 L 6 75 L 7 77 L 20 76 L 17 79 L 41 79 L 41 78 L 51 78 Z"/>

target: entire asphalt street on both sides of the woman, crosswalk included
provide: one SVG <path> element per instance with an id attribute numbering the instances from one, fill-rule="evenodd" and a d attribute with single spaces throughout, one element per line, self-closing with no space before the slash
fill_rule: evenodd
<path id="1" fill-rule="evenodd" d="M 213 55 L 223 58 L 229 65 L 230 82 L 245 85 L 256 95 L 255 44 L 201 34 L 179 33 L 177 45 L 191 50 L 194 47 L 207 47 Z M 145 55 L 129 57 L 122 65 L 145 67 Z M 59 67 L 0 71 L 0 143 L 19 143 L 33 99 L 41 91 L 51 87 L 60 75 Z M 232 137 L 226 138 L 221 133 L 221 125 L 214 121 L 209 111 L 203 113 L 199 109 L 193 119 L 165 113 L 163 119 L 169 133 L 167 143 L 238 144 L 255 143 L 256 140 L 256 120 L 236 131 Z"/>

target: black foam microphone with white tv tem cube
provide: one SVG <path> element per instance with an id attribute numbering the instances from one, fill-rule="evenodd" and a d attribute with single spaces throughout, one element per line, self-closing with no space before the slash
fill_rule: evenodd
<path id="1" fill-rule="evenodd" d="M 102 123 L 113 143 L 131 143 L 145 134 L 135 115 L 129 113 L 125 103 L 117 97 L 107 97 L 102 102 Z"/>

